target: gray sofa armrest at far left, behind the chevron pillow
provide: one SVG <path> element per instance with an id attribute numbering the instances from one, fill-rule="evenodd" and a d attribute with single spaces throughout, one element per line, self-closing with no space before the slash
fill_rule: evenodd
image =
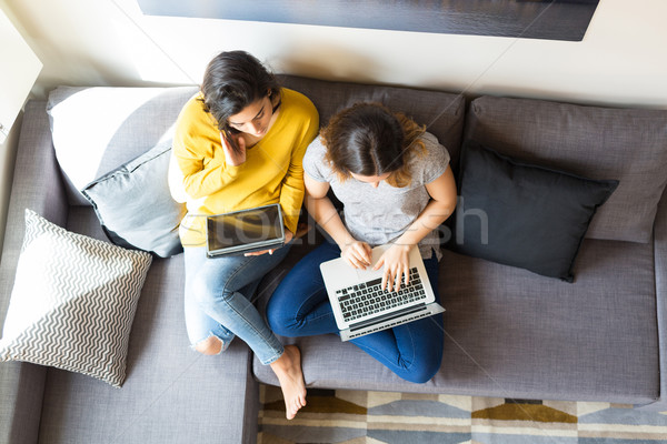
<path id="1" fill-rule="evenodd" d="M 44 101 L 26 105 L 0 256 L 0 325 L 4 324 L 29 208 L 64 226 L 68 200 L 51 141 Z M 0 363 L 0 442 L 37 443 L 47 369 Z"/>

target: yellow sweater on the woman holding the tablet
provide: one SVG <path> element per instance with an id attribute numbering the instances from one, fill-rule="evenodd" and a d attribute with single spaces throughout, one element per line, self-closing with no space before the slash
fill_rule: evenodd
<path id="1" fill-rule="evenodd" d="M 225 162 L 220 132 L 198 99 L 183 107 L 173 138 L 188 214 L 180 225 L 183 246 L 206 244 L 206 216 L 279 202 L 285 226 L 297 230 L 303 201 L 302 159 L 319 128 L 312 102 L 282 89 L 280 113 L 267 134 L 246 151 L 246 162 Z"/>

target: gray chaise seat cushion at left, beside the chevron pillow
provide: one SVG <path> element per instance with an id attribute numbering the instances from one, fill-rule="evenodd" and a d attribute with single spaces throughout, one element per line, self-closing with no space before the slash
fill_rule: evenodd
<path id="1" fill-rule="evenodd" d="M 67 229 L 103 239 L 91 206 L 72 206 Z M 49 443 L 250 443 L 259 397 L 250 349 L 192 351 L 183 314 L 183 255 L 155 259 L 141 289 L 121 390 L 48 369 L 40 435 Z M 0 364 L 1 366 L 1 364 Z M 40 398 L 41 403 L 41 398 Z M 210 412 L 225 412 L 211 421 Z"/>

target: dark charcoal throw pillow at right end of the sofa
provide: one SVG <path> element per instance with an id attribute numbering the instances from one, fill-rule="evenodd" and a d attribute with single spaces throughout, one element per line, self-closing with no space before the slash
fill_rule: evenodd
<path id="1" fill-rule="evenodd" d="M 464 145 L 456 245 L 464 254 L 574 281 L 588 224 L 618 181 L 590 180 Z"/>

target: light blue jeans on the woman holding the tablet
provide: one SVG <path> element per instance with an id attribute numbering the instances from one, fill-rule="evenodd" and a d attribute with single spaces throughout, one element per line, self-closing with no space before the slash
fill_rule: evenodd
<path id="1" fill-rule="evenodd" d="M 283 353 L 282 344 L 259 314 L 251 297 L 261 278 L 278 265 L 290 245 L 273 254 L 209 259 L 205 248 L 186 248 L 186 326 L 192 346 L 216 336 L 222 350 L 235 335 L 243 340 L 262 364 Z"/>

